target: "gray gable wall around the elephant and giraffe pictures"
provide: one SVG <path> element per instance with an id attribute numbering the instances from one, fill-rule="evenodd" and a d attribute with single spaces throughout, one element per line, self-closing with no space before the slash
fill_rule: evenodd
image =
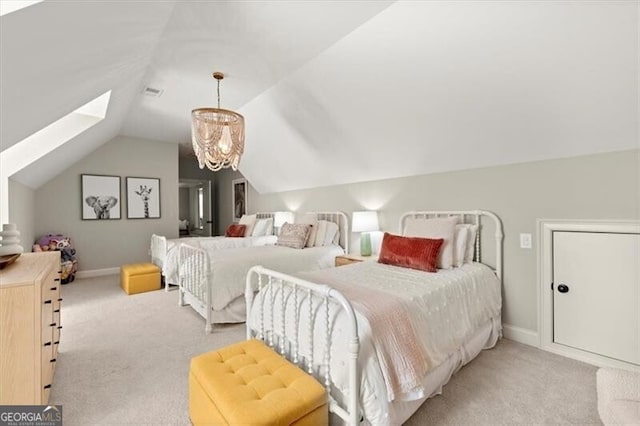
<path id="1" fill-rule="evenodd" d="M 121 177 L 120 220 L 81 219 L 81 174 Z M 127 176 L 160 178 L 160 219 L 127 219 Z M 118 136 L 38 188 L 35 205 L 36 235 L 69 235 L 80 271 L 148 261 L 152 233 L 178 235 L 178 145 Z"/>

